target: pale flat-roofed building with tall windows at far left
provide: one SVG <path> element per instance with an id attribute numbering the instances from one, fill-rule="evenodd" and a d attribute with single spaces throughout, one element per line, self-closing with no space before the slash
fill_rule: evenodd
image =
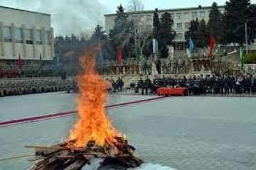
<path id="1" fill-rule="evenodd" d="M 0 64 L 53 60 L 53 38 L 49 14 L 0 6 Z"/>

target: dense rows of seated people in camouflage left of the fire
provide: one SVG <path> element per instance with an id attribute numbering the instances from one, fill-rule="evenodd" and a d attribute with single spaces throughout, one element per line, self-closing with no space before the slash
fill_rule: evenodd
<path id="1" fill-rule="evenodd" d="M 23 94 L 41 94 L 53 91 L 68 91 L 73 86 L 68 79 L 2 79 L 0 80 L 0 97 Z"/>

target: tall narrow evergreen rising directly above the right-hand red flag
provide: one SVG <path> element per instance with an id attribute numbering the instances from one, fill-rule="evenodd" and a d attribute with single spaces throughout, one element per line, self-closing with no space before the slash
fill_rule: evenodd
<path id="1" fill-rule="evenodd" d="M 213 35 L 217 42 L 221 41 L 223 36 L 221 16 L 222 14 L 218 10 L 218 5 L 214 2 L 210 9 L 207 27 L 209 35 Z"/>

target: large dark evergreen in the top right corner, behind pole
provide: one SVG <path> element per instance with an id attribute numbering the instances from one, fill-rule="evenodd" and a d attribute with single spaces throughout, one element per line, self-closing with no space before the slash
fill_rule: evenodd
<path id="1" fill-rule="evenodd" d="M 245 43 L 245 23 L 253 15 L 250 0 L 230 0 L 225 4 L 225 13 L 223 16 L 223 27 L 225 32 L 225 41 L 237 42 L 240 45 Z M 248 42 L 255 40 L 255 26 L 248 23 Z"/>

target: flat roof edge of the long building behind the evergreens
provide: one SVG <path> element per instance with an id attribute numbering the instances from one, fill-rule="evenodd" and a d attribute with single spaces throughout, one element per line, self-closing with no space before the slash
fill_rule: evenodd
<path id="1" fill-rule="evenodd" d="M 185 10 L 198 10 L 198 9 L 210 9 L 211 6 L 197 6 L 191 8 L 171 8 L 171 9 L 159 9 L 158 11 L 161 12 L 169 12 L 169 11 L 185 11 Z M 218 6 L 218 8 L 224 8 L 224 6 Z M 145 11 L 138 11 L 136 13 L 154 13 L 155 10 L 145 10 Z M 133 14 L 135 12 L 127 12 L 128 14 Z M 105 14 L 104 16 L 115 16 L 117 13 L 110 13 Z"/>

